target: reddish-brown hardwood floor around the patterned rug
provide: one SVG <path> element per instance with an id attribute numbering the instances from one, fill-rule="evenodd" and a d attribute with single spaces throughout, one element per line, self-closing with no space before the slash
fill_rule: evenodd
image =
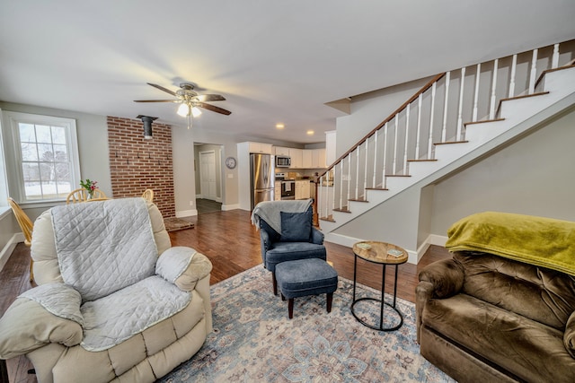
<path id="1" fill-rule="evenodd" d="M 260 233 L 250 222 L 250 213 L 243 210 L 201 214 L 186 218 L 195 223 L 195 228 L 170 232 L 173 246 L 189 246 L 206 255 L 212 262 L 210 283 L 218 283 L 244 270 L 261 264 Z M 351 248 L 332 243 L 325 243 L 328 260 L 342 278 L 353 279 L 353 252 Z M 439 259 L 451 257 L 445 248 L 431 246 L 421 258 L 418 265 L 404 264 L 399 266 L 397 296 L 411 302 L 415 301 L 415 286 L 420 270 Z M 18 244 L 4 269 L 0 272 L 0 312 L 4 311 L 15 300 L 16 296 L 32 287 L 29 283 L 30 248 Z M 377 290 L 381 289 L 382 268 L 358 260 L 358 283 L 366 284 Z M 394 267 L 387 267 L 385 291 L 392 292 Z M 270 275 L 271 292 L 271 275 Z M 337 293 L 337 292 L 336 292 Z M 11 382 L 35 382 L 34 375 L 28 375 L 31 363 L 25 357 L 7 361 L 8 375 Z"/>

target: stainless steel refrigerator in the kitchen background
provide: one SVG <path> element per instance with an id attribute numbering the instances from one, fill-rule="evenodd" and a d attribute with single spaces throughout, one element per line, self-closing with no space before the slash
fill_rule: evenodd
<path id="1" fill-rule="evenodd" d="M 250 154 L 252 210 L 261 201 L 273 201 L 276 180 L 274 166 L 274 156 Z"/>

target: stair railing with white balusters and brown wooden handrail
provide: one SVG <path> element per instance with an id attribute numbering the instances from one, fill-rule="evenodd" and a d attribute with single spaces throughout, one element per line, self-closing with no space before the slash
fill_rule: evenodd
<path id="1" fill-rule="evenodd" d="M 575 40 L 437 74 L 315 179 L 315 212 L 333 221 L 387 178 L 409 177 L 413 161 L 436 161 L 435 146 L 465 142 L 465 126 L 496 120 L 501 100 L 534 95 L 537 76 L 572 65 Z M 517 89 L 521 90 L 517 92 Z"/>

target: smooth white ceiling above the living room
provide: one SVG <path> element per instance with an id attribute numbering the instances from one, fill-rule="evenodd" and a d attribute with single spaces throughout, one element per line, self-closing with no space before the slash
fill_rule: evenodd
<path id="1" fill-rule="evenodd" d="M 0 100 L 183 127 L 133 100 L 190 81 L 232 111 L 194 128 L 309 144 L 342 115 L 326 102 L 573 39 L 574 19 L 573 0 L 0 0 Z"/>

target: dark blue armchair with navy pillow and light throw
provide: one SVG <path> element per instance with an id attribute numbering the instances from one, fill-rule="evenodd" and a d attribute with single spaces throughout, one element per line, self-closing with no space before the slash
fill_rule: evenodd
<path id="1" fill-rule="evenodd" d="M 261 203 L 253 210 L 253 215 L 257 216 L 255 222 L 260 227 L 261 259 L 263 266 L 271 272 L 275 295 L 278 294 L 276 265 L 296 259 L 326 260 L 323 233 L 312 224 L 311 200 Z M 267 222 L 266 218 L 272 222 Z"/>

